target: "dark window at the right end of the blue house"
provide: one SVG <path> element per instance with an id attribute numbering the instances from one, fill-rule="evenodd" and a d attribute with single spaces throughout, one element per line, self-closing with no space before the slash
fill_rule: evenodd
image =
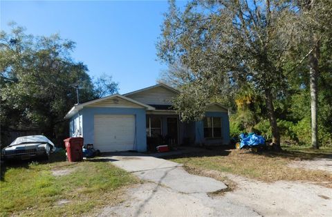
<path id="1" fill-rule="evenodd" d="M 204 118 L 204 138 L 221 138 L 221 117 Z"/>

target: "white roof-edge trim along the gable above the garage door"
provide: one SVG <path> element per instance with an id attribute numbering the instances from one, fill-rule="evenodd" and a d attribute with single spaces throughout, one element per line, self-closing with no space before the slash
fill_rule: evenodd
<path id="1" fill-rule="evenodd" d="M 125 97 L 125 96 L 120 95 L 120 94 L 117 93 L 117 94 L 114 94 L 114 95 L 109 95 L 107 97 L 102 97 L 102 98 L 97 99 L 97 100 L 91 100 L 89 102 L 84 102 L 82 104 L 75 105 L 75 106 L 73 106 L 73 108 L 71 108 L 70 111 L 68 111 L 68 113 L 66 114 L 66 116 L 64 116 L 64 119 L 68 119 L 70 117 L 73 117 L 73 115 L 75 115 L 75 113 L 77 113 L 78 111 L 80 111 L 81 109 L 83 109 L 84 106 L 88 106 L 88 105 L 91 105 L 93 103 L 100 102 L 100 101 L 103 101 L 103 100 L 108 100 L 108 99 L 111 99 L 113 97 L 120 97 L 122 100 L 127 100 L 129 102 L 132 102 L 133 104 L 138 104 L 140 106 L 143 106 L 147 110 L 155 110 L 155 108 L 153 106 L 149 106 L 147 104 L 144 104 L 142 102 L 138 102 L 136 100 L 133 100 L 133 99 L 131 99 L 129 97 Z"/>

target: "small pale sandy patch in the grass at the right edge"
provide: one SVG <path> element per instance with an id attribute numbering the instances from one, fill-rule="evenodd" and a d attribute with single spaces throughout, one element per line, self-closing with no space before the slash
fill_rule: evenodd
<path id="1" fill-rule="evenodd" d="M 322 170 L 332 173 L 332 158 L 314 158 L 313 160 L 296 160 L 288 164 L 288 167 L 302 168 L 306 170 Z"/>

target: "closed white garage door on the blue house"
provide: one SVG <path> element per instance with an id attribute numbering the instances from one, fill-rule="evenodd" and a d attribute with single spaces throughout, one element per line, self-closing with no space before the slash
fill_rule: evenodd
<path id="1" fill-rule="evenodd" d="M 134 115 L 95 115 L 95 143 L 101 152 L 133 150 Z"/>

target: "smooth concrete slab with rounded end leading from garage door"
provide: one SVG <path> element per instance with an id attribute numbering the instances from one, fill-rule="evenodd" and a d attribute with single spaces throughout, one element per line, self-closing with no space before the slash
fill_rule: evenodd
<path id="1" fill-rule="evenodd" d="M 182 193 L 209 193 L 227 188 L 223 182 L 213 178 L 187 173 L 181 164 L 149 155 L 122 153 L 104 158 L 111 159 L 117 167 L 135 174 L 142 180 L 162 184 Z"/>

